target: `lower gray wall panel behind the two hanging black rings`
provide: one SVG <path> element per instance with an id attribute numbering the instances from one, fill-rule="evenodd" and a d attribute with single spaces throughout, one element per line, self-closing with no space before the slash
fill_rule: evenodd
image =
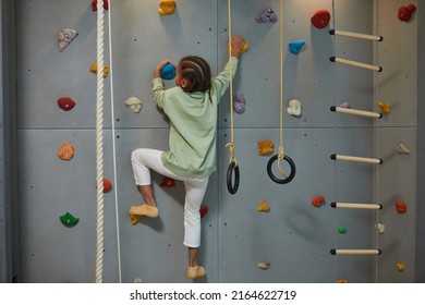
<path id="1" fill-rule="evenodd" d="M 371 130 L 344 130 L 347 138 L 367 138 Z M 367 247 L 371 244 L 369 217 L 354 212 L 347 215 L 330 208 L 333 187 L 338 180 L 338 193 L 344 198 L 371 198 L 371 167 L 335 164 L 329 158 L 333 142 L 332 130 L 287 130 L 286 154 L 296 164 L 296 175 L 284 185 L 274 183 L 266 167 L 270 156 L 259 156 L 257 141 L 270 138 L 279 144 L 278 130 L 238 130 L 235 132 L 236 158 L 241 171 L 238 193 L 227 191 L 226 181 L 220 182 L 220 281 L 260 282 L 329 282 L 333 280 L 333 258 L 329 251 L 335 247 L 335 222 L 349 227 L 349 234 L 341 237 L 341 244 Z M 220 147 L 228 137 L 220 136 Z M 340 143 L 342 148 L 350 142 Z M 367 154 L 367 145 L 354 152 Z M 277 149 L 275 149 L 277 151 Z M 224 176 L 228 168 L 228 151 L 220 150 L 219 175 Z M 333 175 L 335 167 L 345 174 Z M 350 171 L 350 172 L 349 172 Z M 315 173 L 315 174 L 313 174 Z M 356 187 L 352 181 L 355 180 Z M 361 195 L 360 195 L 361 194 Z M 314 208 L 313 197 L 323 195 L 325 206 Z M 259 213 L 256 207 L 267 200 L 271 209 Z M 344 242 L 350 240 L 350 242 Z M 270 260 L 267 271 L 256 267 L 260 260 Z M 338 259 L 339 260 L 339 259 Z M 302 261 L 302 263 L 301 263 Z M 349 261 L 350 264 L 343 264 Z M 308 272 L 299 272 L 300 264 Z M 327 266 L 319 268 L 318 266 Z M 368 281 L 368 258 L 352 257 L 341 261 L 342 272 L 350 274 L 350 281 Z M 241 277 L 238 270 L 245 270 Z M 363 271 L 360 271 L 363 270 Z M 339 274 L 336 274 L 337 277 Z"/>

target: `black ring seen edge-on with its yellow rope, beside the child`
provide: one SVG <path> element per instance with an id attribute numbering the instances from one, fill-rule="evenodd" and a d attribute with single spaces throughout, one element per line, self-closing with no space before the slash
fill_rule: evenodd
<path id="1" fill-rule="evenodd" d="M 230 194 L 235 194 L 238 192 L 239 187 L 239 166 L 238 166 L 238 160 L 236 157 L 234 156 L 234 122 L 233 122 L 233 71 L 232 71 L 232 1 L 228 0 L 228 22 L 229 22 L 229 38 L 228 38 L 228 44 L 229 44 L 229 91 L 230 91 L 230 142 L 226 145 L 226 147 L 229 147 L 230 150 L 230 160 L 229 160 L 229 168 L 228 168 L 228 173 L 227 173 L 227 184 L 228 184 L 228 190 Z M 233 180 L 233 171 L 235 174 L 234 178 L 234 183 L 232 183 Z"/>

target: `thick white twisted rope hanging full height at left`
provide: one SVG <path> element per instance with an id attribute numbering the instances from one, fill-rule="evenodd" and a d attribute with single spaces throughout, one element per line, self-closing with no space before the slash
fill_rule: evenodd
<path id="1" fill-rule="evenodd" d="M 104 273 L 104 1 L 97 0 L 97 102 L 96 102 L 96 282 Z"/>

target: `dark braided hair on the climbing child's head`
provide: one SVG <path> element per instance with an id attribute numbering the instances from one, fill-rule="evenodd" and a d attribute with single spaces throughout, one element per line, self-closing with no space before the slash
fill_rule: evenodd
<path id="1" fill-rule="evenodd" d="M 211 88 L 211 69 L 208 62 L 196 56 L 187 56 L 179 63 L 182 78 L 189 85 L 182 88 L 185 93 L 207 91 Z"/>

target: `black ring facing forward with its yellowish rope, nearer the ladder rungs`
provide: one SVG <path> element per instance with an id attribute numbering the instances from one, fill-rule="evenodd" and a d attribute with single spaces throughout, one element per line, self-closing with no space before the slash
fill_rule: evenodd
<path id="1" fill-rule="evenodd" d="M 270 158 L 267 163 L 267 173 L 272 181 L 279 184 L 286 184 L 295 176 L 295 163 L 293 160 L 284 155 L 284 146 L 283 146 L 283 0 L 280 0 L 280 144 L 279 144 L 279 152 Z M 284 176 L 284 179 L 278 179 L 275 176 L 271 170 L 271 166 L 275 161 L 277 162 L 279 172 Z M 280 166 L 280 161 L 286 160 L 291 167 L 291 173 L 288 175 L 282 167 Z"/>

